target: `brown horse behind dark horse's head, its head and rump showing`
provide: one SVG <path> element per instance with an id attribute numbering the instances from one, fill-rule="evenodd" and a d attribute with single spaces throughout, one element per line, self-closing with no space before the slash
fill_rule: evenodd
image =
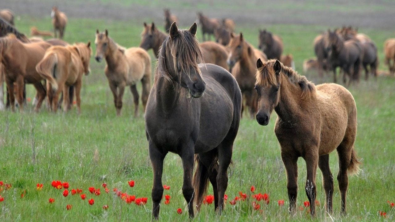
<path id="1" fill-rule="evenodd" d="M 158 58 L 159 48 L 162 46 L 166 36 L 166 34 L 156 28 L 154 23 L 144 23 L 140 47 L 145 50 L 152 49 L 156 58 Z M 213 41 L 203 42 L 200 44 L 200 47 L 203 52 L 203 60 L 205 63 L 215 64 L 228 70 L 228 64 L 226 64 L 228 53 L 225 47 Z"/>

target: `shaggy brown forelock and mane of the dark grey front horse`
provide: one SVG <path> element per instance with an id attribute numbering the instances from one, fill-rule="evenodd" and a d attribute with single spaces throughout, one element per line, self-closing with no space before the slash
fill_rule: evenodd
<path id="1" fill-rule="evenodd" d="M 160 47 L 154 81 L 160 76 L 166 80 L 172 80 L 166 67 L 166 51 L 169 52 L 170 56 L 173 56 L 174 70 L 177 71 L 177 66 L 179 66 L 179 72 L 177 73 L 179 79 L 181 79 L 181 73 L 183 72 L 188 73 L 189 76 L 191 67 L 201 75 L 198 64 L 203 62 L 203 54 L 199 42 L 188 30 L 179 30 L 178 36 L 174 39 L 167 36 Z M 176 58 L 177 54 L 178 57 Z"/>

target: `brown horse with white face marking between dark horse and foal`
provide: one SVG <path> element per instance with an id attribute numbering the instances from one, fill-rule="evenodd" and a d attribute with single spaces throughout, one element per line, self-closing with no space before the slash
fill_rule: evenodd
<path id="1" fill-rule="evenodd" d="M 266 55 L 258 49 L 255 49 L 244 40 L 243 34 L 234 36 L 231 34 L 231 40 L 228 46 L 230 51 L 228 57 L 228 65 L 232 75 L 236 78 L 237 83 L 243 94 L 242 114 L 244 107 L 249 107 L 250 115 L 253 117 L 256 114 L 257 97 L 254 90 L 255 73 L 256 73 L 256 60 L 263 58 L 267 60 Z"/>

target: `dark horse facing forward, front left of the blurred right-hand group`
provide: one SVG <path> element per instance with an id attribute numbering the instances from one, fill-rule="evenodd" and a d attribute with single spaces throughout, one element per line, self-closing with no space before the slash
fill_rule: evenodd
<path id="1" fill-rule="evenodd" d="M 346 83 L 346 75 L 350 77 L 347 86 L 351 82 L 359 81 L 359 69 L 362 63 L 363 49 L 355 40 L 344 41 L 342 36 L 328 30 L 325 35 L 325 47 L 328 52 L 328 64 L 333 70 L 333 81 L 336 83 L 336 68 L 340 67 L 343 72 L 343 83 Z M 351 70 L 352 69 L 352 70 Z"/>

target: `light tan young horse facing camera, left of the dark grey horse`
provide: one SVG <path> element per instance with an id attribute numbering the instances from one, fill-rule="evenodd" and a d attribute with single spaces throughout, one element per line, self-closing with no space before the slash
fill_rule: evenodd
<path id="1" fill-rule="evenodd" d="M 137 117 L 139 110 L 139 93 L 136 83 L 141 81 L 143 108 L 147 104 L 150 79 L 151 79 L 151 58 L 147 51 L 140 47 L 125 49 L 120 47 L 114 40 L 108 37 L 107 29 L 99 33 L 96 30 L 96 55 L 97 62 L 105 58 L 105 76 L 108 79 L 111 92 L 114 96 L 114 105 L 117 115 L 121 114 L 122 97 L 126 86 L 130 86 L 134 98 L 134 116 Z"/>

